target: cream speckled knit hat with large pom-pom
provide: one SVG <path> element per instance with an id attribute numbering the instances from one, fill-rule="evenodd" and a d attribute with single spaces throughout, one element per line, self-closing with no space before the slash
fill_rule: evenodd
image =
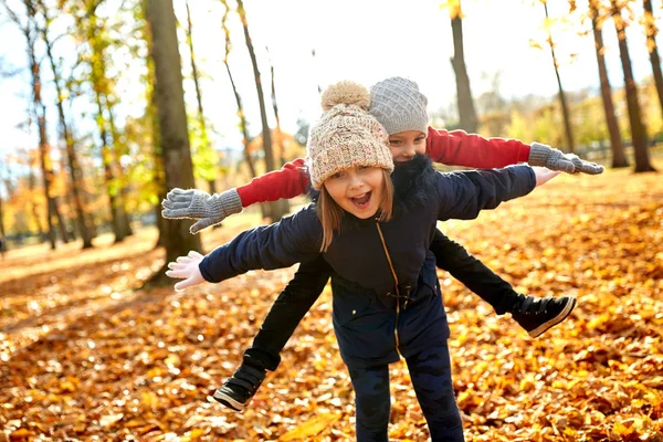
<path id="1" fill-rule="evenodd" d="M 334 173 L 356 166 L 393 171 L 387 131 L 368 113 L 370 93 L 357 83 L 343 81 L 329 86 L 322 97 L 325 113 L 311 128 L 306 165 L 311 185 L 319 190 Z"/>

